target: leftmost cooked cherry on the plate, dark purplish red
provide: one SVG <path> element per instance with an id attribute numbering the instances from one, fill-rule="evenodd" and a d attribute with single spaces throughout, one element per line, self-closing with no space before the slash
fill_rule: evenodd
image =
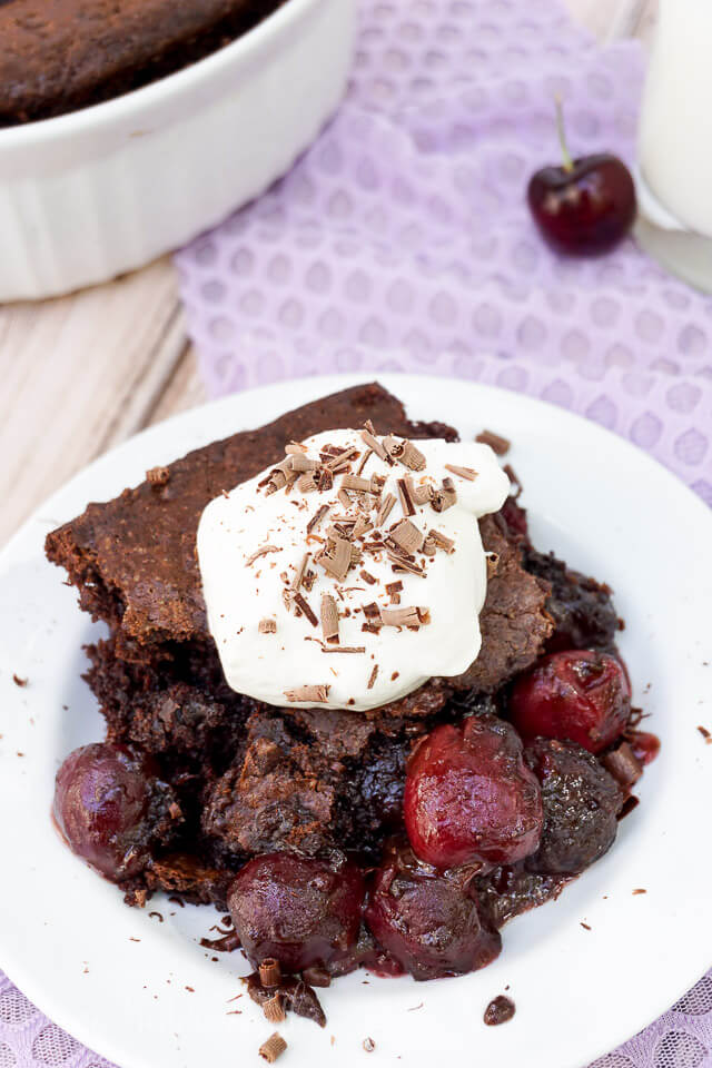
<path id="1" fill-rule="evenodd" d="M 57 772 L 55 819 L 75 853 L 108 879 L 138 874 L 162 833 L 169 788 L 149 759 L 96 742 L 70 753 Z"/>

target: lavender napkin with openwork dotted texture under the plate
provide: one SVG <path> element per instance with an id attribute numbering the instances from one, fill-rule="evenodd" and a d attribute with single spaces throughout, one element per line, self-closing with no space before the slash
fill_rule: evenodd
<path id="1" fill-rule="evenodd" d="M 337 0 L 333 0 L 337 2 Z M 712 504 L 712 301 L 627 243 L 556 259 L 524 206 L 556 159 L 631 159 L 643 57 L 554 0 L 363 0 L 338 117 L 259 201 L 178 254 L 214 395 L 409 370 L 494 383 L 596 419 Z M 0 1068 L 111 1068 L 0 972 Z M 712 972 L 595 1068 L 712 1068 Z"/>

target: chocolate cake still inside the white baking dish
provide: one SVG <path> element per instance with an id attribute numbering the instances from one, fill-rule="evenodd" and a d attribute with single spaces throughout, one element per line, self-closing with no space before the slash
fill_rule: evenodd
<path id="1" fill-rule="evenodd" d="M 0 126 L 47 119 L 194 63 L 285 0 L 0 0 Z"/>

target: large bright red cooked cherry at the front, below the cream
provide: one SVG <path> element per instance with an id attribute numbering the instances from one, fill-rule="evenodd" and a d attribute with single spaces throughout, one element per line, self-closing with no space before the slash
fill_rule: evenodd
<path id="1" fill-rule="evenodd" d="M 491 715 L 436 728 L 411 758 L 405 824 L 417 856 L 437 868 L 532 853 L 542 799 L 513 728 Z"/>

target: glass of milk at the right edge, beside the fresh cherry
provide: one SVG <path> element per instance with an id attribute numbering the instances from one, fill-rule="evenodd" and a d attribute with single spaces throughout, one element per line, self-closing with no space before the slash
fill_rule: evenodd
<path id="1" fill-rule="evenodd" d="M 644 248 L 712 293 L 712 0 L 660 0 L 639 132 Z"/>

